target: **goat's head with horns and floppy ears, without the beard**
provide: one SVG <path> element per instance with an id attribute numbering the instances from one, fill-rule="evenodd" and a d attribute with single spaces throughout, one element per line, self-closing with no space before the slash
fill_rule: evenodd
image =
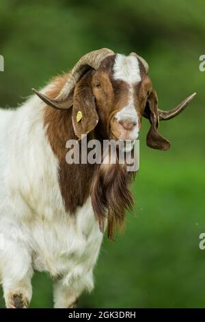
<path id="1" fill-rule="evenodd" d="M 35 92 L 53 108 L 72 107 L 72 125 L 78 138 L 98 125 L 103 138 L 135 140 L 144 116 L 150 121 L 147 144 L 161 150 L 169 149 L 170 143 L 159 134 L 159 121 L 178 115 L 195 96 L 189 96 L 174 110 L 159 110 L 146 61 L 136 53 L 115 55 L 109 49 L 83 56 L 56 99 Z"/>

